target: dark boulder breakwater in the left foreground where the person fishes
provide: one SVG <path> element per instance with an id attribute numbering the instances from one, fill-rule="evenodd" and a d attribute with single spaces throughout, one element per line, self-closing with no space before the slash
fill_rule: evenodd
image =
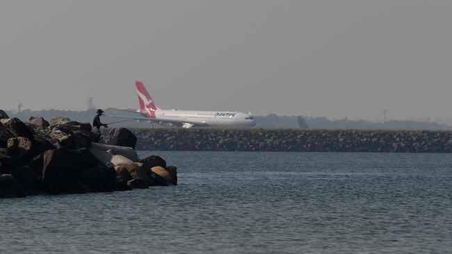
<path id="1" fill-rule="evenodd" d="M 0 123 L 0 198 L 177 185 L 177 168 L 155 155 L 140 160 L 125 128 L 100 139 L 90 124 L 65 117 L 22 122 L 3 110 Z"/>

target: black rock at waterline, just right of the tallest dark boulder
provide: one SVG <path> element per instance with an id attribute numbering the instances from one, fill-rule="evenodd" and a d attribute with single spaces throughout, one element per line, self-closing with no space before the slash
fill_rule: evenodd
<path id="1" fill-rule="evenodd" d="M 94 192 L 113 192 L 116 172 L 111 167 L 95 167 L 81 171 L 80 180 Z"/>

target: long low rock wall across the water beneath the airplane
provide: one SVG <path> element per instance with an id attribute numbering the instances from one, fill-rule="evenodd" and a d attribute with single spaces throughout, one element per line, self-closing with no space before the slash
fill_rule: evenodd
<path id="1" fill-rule="evenodd" d="M 451 131 L 136 128 L 149 151 L 451 153 Z"/>

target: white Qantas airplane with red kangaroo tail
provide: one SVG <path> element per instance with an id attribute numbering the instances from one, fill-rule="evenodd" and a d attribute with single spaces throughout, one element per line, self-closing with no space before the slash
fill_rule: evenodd
<path id="1" fill-rule="evenodd" d="M 231 111 L 193 111 L 193 110 L 162 110 L 157 108 L 151 96 L 141 81 L 136 81 L 136 92 L 140 109 L 136 111 L 122 110 L 138 113 L 140 117 L 110 116 L 122 119 L 135 119 L 137 121 L 150 121 L 152 123 L 168 126 L 192 127 L 224 127 L 246 128 L 256 125 L 251 113 Z"/>

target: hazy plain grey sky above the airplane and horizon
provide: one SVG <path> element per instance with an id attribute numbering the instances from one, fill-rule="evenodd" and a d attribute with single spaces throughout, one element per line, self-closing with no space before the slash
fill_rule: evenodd
<path id="1" fill-rule="evenodd" d="M 452 116 L 452 1 L 1 1 L 0 108 Z"/>

